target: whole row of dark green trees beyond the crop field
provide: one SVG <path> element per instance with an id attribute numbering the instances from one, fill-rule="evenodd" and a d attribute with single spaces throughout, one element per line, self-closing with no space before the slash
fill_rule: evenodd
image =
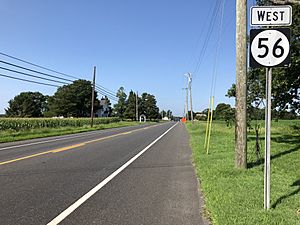
<path id="1" fill-rule="evenodd" d="M 22 92 L 8 102 L 5 109 L 7 117 L 88 117 L 91 115 L 92 83 L 88 80 L 75 80 L 73 83 L 59 87 L 53 96 L 43 95 L 40 92 Z M 98 92 L 94 92 L 94 112 L 103 108 L 98 99 Z M 172 111 L 159 112 L 154 95 L 142 93 L 137 96 L 132 90 L 127 95 L 124 87 L 117 91 L 117 103 L 112 104 L 107 96 L 105 101 L 107 116 L 120 119 L 136 120 L 138 114 L 147 119 L 157 120 L 165 116 L 172 119 Z"/>

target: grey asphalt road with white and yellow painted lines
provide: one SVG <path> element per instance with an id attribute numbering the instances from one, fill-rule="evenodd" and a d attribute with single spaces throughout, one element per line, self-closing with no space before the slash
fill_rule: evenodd
<path id="1" fill-rule="evenodd" d="M 201 225 L 190 158 L 173 122 L 0 144 L 0 224 Z"/>

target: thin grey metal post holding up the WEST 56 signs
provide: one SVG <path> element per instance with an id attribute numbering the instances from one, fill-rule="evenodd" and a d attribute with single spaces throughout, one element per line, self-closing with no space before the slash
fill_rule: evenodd
<path id="1" fill-rule="evenodd" d="M 266 69 L 266 96 L 265 113 L 265 168 L 264 168 L 264 208 L 270 208 L 270 154 L 271 154 L 271 87 L 272 68 Z"/>

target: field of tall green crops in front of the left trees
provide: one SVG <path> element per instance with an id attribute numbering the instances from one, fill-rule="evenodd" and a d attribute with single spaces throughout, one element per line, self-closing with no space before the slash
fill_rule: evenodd
<path id="1" fill-rule="evenodd" d="M 94 124 L 119 122 L 119 118 L 95 118 Z M 90 118 L 0 118 L 0 131 L 23 131 L 40 128 L 82 127 L 91 124 Z"/>

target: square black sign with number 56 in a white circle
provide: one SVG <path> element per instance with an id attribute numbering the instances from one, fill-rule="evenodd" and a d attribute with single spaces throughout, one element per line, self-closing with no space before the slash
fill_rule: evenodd
<path id="1" fill-rule="evenodd" d="M 290 65 L 290 29 L 250 30 L 250 67 Z"/>

